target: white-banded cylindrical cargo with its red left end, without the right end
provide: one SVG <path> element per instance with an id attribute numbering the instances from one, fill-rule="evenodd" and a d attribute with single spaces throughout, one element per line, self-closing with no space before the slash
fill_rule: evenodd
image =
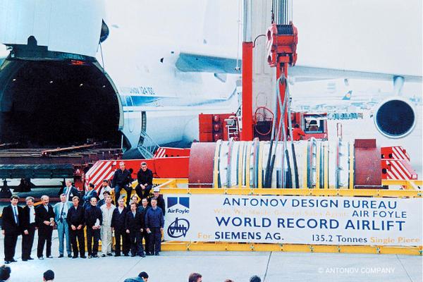
<path id="1" fill-rule="evenodd" d="M 201 183 L 201 187 L 213 188 L 348 188 L 354 183 L 352 146 L 341 140 L 315 139 L 293 143 L 257 138 L 251 142 L 194 143 L 190 186 L 199 187 L 195 183 Z"/>

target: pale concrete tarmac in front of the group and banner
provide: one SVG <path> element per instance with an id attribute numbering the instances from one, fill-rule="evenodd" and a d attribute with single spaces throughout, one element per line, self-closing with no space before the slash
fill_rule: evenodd
<path id="1" fill-rule="evenodd" d="M 53 233 L 54 259 L 23 262 L 18 239 L 10 282 L 42 281 L 42 274 L 52 269 L 60 282 L 121 282 L 149 274 L 149 282 L 186 282 L 191 272 L 199 272 L 204 282 L 247 282 L 253 275 L 266 282 L 282 281 L 422 281 L 422 257 L 405 255 L 357 255 L 295 252 L 161 252 L 160 256 L 105 257 L 98 259 L 57 258 L 59 240 Z M 66 250 L 65 250 L 66 254 Z M 4 255 L 4 235 L 0 235 L 0 256 Z"/>

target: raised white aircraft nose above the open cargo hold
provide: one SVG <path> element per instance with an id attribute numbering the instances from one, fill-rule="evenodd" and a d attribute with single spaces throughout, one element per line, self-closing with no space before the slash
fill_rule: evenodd
<path id="1" fill-rule="evenodd" d="M 97 53 L 104 0 L 0 2 L 0 42 L 27 44 L 35 37 L 49 51 L 94 57 Z"/>

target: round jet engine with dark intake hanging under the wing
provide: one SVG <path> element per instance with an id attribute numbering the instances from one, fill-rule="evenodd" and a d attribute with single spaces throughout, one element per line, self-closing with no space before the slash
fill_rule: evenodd
<path id="1" fill-rule="evenodd" d="M 401 138 L 415 128 L 416 114 L 412 106 L 404 99 L 388 99 L 376 110 L 374 123 L 382 135 L 389 138 Z"/>

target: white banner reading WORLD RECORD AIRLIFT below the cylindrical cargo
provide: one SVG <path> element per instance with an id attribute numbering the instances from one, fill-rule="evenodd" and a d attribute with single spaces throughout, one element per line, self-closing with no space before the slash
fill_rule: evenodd
<path id="1" fill-rule="evenodd" d="M 165 195 L 165 240 L 422 245 L 422 199 Z"/>

